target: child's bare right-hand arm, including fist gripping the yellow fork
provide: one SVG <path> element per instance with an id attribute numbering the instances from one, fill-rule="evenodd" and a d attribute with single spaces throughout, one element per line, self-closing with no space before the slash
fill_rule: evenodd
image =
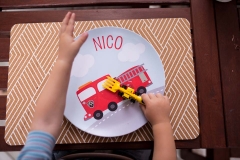
<path id="1" fill-rule="evenodd" d="M 153 129 L 153 159 L 175 160 L 177 156 L 169 118 L 171 107 L 168 97 L 150 93 L 143 94 L 142 99 L 145 106 L 142 105 L 141 108 Z"/>

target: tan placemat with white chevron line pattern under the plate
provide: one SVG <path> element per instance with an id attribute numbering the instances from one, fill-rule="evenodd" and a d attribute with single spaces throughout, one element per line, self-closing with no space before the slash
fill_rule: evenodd
<path id="1" fill-rule="evenodd" d="M 87 30 L 117 26 L 134 31 L 148 40 L 162 60 L 165 94 L 171 99 L 171 124 L 176 140 L 199 135 L 198 106 L 190 24 L 186 19 L 128 19 L 79 21 L 74 36 Z M 5 140 L 23 145 L 30 130 L 36 101 L 57 58 L 61 23 L 17 24 L 12 27 L 8 75 Z M 67 119 L 57 143 L 101 143 L 151 141 L 150 124 L 128 135 L 104 138 L 77 129 Z"/>

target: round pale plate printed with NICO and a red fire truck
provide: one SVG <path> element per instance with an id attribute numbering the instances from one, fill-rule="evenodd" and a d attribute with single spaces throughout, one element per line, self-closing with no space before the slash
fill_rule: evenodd
<path id="1" fill-rule="evenodd" d="M 143 37 L 126 29 L 103 27 L 88 34 L 73 62 L 64 115 L 79 129 L 97 136 L 133 132 L 147 122 L 139 104 L 104 90 L 103 79 L 106 75 L 119 78 L 131 69 L 125 84 L 134 89 L 145 86 L 147 92 L 163 94 L 165 76 L 159 55 Z M 133 71 L 134 67 L 138 69 Z M 89 81 L 92 82 L 83 86 Z M 83 87 L 79 89 L 80 86 Z M 108 109 L 111 101 L 118 105 L 115 111 Z"/>

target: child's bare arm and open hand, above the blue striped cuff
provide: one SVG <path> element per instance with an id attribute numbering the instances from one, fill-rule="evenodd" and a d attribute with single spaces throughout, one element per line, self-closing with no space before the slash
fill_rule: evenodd
<path id="1" fill-rule="evenodd" d="M 69 12 L 63 19 L 59 35 L 58 59 L 37 101 L 31 125 L 31 130 L 50 133 L 55 139 L 59 136 L 63 120 L 72 63 L 88 36 L 87 33 L 83 33 L 74 41 L 74 22 L 74 13 Z"/>

